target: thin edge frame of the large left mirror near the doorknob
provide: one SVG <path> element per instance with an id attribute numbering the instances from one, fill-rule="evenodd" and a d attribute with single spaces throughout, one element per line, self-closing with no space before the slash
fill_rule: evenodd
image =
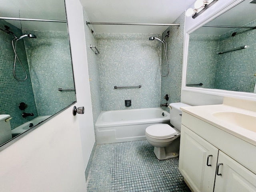
<path id="1" fill-rule="evenodd" d="M 69 32 L 69 27 L 68 27 L 68 18 L 67 18 L 67 11 L 66 11 L 66 0 L 64 1 L 64 6 L 65 6 L 65 16 L 66 16 L 66 27 L 67 27 L 67 33 L 68 33 L 68 43 L 70 45 L 70 32 Z M 10 18 L 10 17 L 8 17 Z M 16 19 L 14 19 L 16 20 Z M 41 22 L 41 21 L 40 21 Z M 37 125 L 33 126 L 32 128 L 26 130 L 25 132 L 15 136 L 14 138 L 8 140 L 7 142 L 3 143 L 0 145 L 0 152 L 4 149 L 6 149 L 8 146 L 14 144 L 14 142 L 20 140 L 21 138 L 23 138 L 24 136 L 26 136 L 28 133 L 32 132 L 33 130 L 35 130 L 36 128 L 38 128 L 39 126 L 41 126 L 42 124 L 48 122 L 49 120 L 51 120 L 52 118 L 56 117 L 58 114 L 60 114 L 61 112 L 63 112 L 64 110 L 71 108 L 71 106 L 73 106 L 76 102 L 77 102 L 77 95 L 76 95 L 76 82 L 74 79 L 74 66 L 73 66 L 73 58 L 72 58 L 72 51 L 71 51 L 71 45 L 70 45 L 70 58 L 71 58 L 71 67 L 72 67 L 72 75 L 73 75 L 73 81 L 74 81 L 74 94 L 76 96 L 76 100 L 74 102 L 72 102 L 71 104 L 69 104 L 68 106 L 66 106 L 65 108 L 63 108 L 62 110 L 58 111 L 57 113 L 51 115 L 49 118 L 47 118 L 46 120 L 38 123 Z M 70 114 L 72 113 L 71 111 L 72 109 L 70 109 Z"/>

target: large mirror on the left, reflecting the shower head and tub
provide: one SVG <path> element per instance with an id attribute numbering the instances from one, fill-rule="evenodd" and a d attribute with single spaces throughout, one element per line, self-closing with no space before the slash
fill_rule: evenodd
<path id="1" fill-rule="evenodd" d="M 4 146 L 76 102 L 64 0 L 2 0 L 0 50 Z"/>

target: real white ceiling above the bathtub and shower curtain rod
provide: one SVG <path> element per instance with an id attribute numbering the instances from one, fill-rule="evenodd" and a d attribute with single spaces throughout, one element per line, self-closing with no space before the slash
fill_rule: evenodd
<path id="1" fill-rule="evenodd" d="M 195 0 L 80 0 L 90 22 L 173 23 Z M 93 25 L 96 33 L 157 33 L 168 26 Z"/>

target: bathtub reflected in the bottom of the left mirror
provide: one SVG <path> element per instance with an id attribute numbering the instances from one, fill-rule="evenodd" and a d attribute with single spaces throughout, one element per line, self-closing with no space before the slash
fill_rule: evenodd
<path id="1" fill-rule="evenodd" d="M 24 123 L 24 124 L 22 124 L 22 125 L 20 125 L 20 126 L 18 126 L 18 127 L 16 127 L 16 128 L 14 128 L 14 129 L 12 130 L 12 137 L 15 137 L 15 136 L 17 136 L 17 135 L 19 135 L 19 134 L 25 132 L 26 130 L 32 128 L 33 126 L 35 126 L 35 125 L 37 125 L 38 123 L 40 123 L 40 122 L 46 120 L 46 119 L 49 118 L 49 117 L 50 117 L 50 115 L 38 116 L 38 117 L 32 119 L 31 121 L 28 121 L 28 122 L 26 122 L 26 123 Z M 33 125 L 32 125 L 31 123 L 32 123 Z M 31 127 L 29 126 L 29 124 L 31 124 L 31 125 L 30 125 Z"/>

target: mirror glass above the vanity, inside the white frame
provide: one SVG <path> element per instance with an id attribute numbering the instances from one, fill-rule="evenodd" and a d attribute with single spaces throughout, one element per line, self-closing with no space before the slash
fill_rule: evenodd
<path id="1" fill-rule="evenodd" d="M 186 86 L 256 92 L 255 10 L 244 0 L 189 34 Z"/>

